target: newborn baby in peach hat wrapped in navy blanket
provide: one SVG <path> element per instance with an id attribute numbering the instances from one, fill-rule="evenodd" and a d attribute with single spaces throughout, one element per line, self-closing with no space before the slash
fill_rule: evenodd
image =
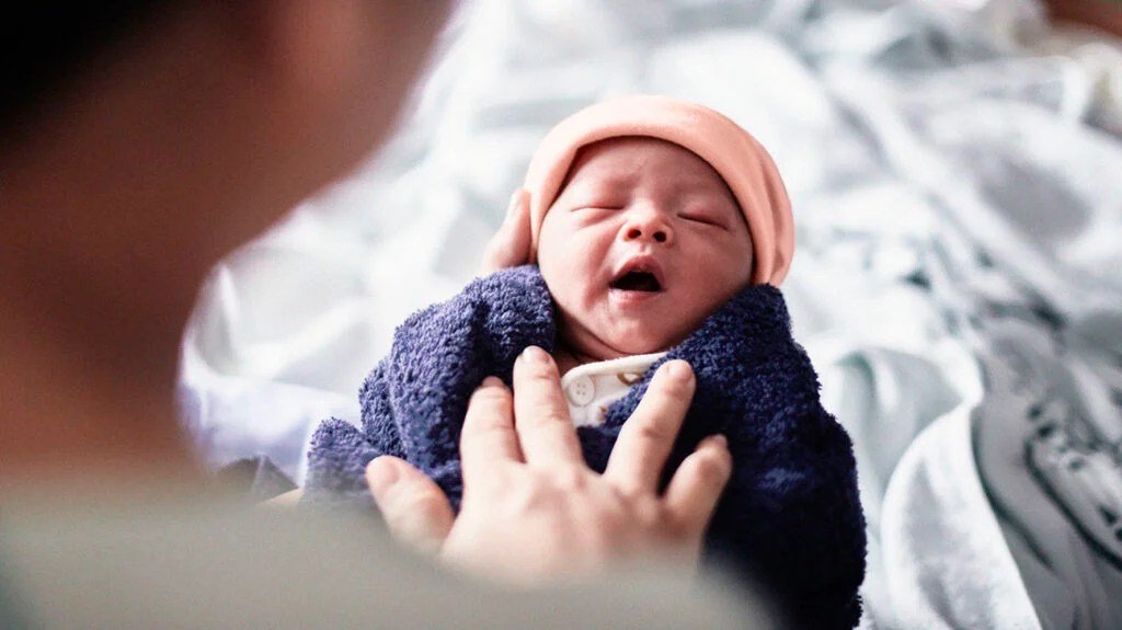
<path id="1" fill-rule="evenodd" d="M 410 317 L 360 392 L 362 428 L 329 420 L 305 500 L 369 502 L 364 470 L 403 457 L 458 504 L 459 427 L 487 376 L 508 385 L 527 345 L 561 369 L 585 457 L 603 471 L 654 370 L 697 390 L 668 471 L 721 433 L 733 478 L 706 557 L 743 569 L 807 628 L 861 615 L 864 517 L 852 444 L 819 404 L 782 295 L 793 251 L 774 164 L 700 105 L 636 96 L 592 105 L 543 140 L 526 176 L 536 266 L 499 271 Z"/>

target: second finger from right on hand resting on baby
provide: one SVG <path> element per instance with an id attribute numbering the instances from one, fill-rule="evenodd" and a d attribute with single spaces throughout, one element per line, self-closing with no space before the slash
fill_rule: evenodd
<path id="1" fill-rule="evenodd" d="M 604 476 L 632 493 L 654 493 L 659 476 L 693 399 L 693 370 L 686 361 L 666 361 L 638 407 L 624 423 Z"/>

